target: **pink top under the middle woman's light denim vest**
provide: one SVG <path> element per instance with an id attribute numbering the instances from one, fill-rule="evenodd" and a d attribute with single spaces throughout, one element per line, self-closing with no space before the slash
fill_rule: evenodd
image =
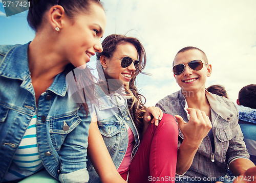
<path id="1" fill-rule="evenodd" d="M 127 129 L 127 133 L 128 133 L 129 142 L 128 142 L 128 147 L 127 147 L 126 153 L 124 155 L 124 158 L 123 158 L 119 168 L 117 169 L 119 173 L 123 172 L 125 170 L 129 170 L 129 167 L 131 165 L 131 154 L 133 151 L 133 147 L 135 145 L 135 141 L 134 141 L 133 132 L 130 127 Z"/>

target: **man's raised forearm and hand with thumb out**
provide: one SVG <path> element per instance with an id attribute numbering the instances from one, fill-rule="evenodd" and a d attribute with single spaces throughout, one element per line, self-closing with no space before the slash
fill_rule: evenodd
<path id="1" fill-rule="evenodd" d="M 178 150 L 176 173 L 182 175 L 193 163 L 197 149 L 211 129 L 209 117 L 200 110 L 187 109 L 190 120 L 185 123 L 181 116 L 175 115 L 179 128 L 184 135 Z"/>

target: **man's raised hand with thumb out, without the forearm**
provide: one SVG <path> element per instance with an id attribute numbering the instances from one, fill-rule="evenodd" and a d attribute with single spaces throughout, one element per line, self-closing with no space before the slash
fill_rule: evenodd
<path id="1" fill-rule="evenodd" d="M 192 147 L 199 147 L 203 139 L 207 136 L 212 125 L 205 112 L 188 108 L 188 114 L 190 115 L 189 121 L 186 123 L 179 115 L 175 115 L 178 122 L 178 126 L 184 135 L 183 142 L 189 142 L 188 145 Z"/>

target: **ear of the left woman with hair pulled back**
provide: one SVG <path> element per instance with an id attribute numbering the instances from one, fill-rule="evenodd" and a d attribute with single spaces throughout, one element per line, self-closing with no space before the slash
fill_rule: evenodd
<path id="1" fill-rule="evenodd" d="M 51 27 L 55 30 L 56 27 L 62 28 L 63 19 L 65 18 L 65 10 L 60 5 L 55 5 L 49 10 Z"/>

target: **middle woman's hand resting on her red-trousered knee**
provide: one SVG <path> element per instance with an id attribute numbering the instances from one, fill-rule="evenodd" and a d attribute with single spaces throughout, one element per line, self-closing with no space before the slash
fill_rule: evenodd
<path id="1" fill-rule="evenodd" d="M 155 123 L 156 126 L 158 126 L 159 120 L 161 120 L 163 117 L 163 112 L 158 107 L 148 107 L 146 109 L 146 112 L 143 116 L 143 123 L 148 123 L 151 121 L 151 123 Z"/>

